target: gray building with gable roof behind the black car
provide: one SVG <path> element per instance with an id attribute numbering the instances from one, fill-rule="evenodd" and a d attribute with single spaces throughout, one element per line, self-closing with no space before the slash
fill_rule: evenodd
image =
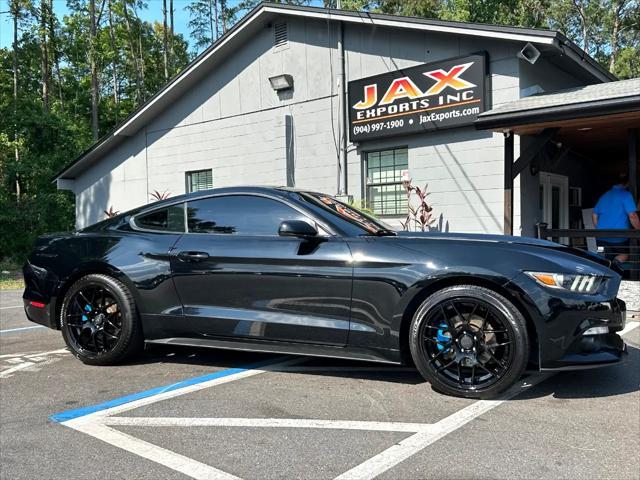
<path id="1" fill-rule="evenodd" d="M 478 53 L 484 71 L 479 82 L 467 81 L 473 92 L 445 88 L 431 103 L 424 100 L 429 95 L 420 79 L 455 79 L 456 61 L 464 70 L 465 58 Z M 366 103 L 361 87 L 368 77 L 374 77 L 369 85 L 384 84 L 390 95 L 377 99 L 386 109 L 370 109 L 380 122 L 368 118 L 365 107 L 354 110 L 355 102 Z M 389 93 L 386 85 L 394 79 L 408 83 Z M 533 94 L 612 80 L 558 32 L 265 3 L 60 172 L 57 182 L 75 193 L 77 227 L 103 219 L 109 207 L 125 211 L 152 202 L 155 190 L 176 195 L 243 184 L 349 195 L 397 222 L 406 214 L 401 180 L 409 175 L 416 185 L 428 183 L 434 213 L 451 231 L 501 233 L 509 201 L 502 133 L 508 129 L 480 130 L 478 115 Z M 417 93 L 408 91 L 413 87 Z M 479 103 L 447 128 L 432 120 L 409 131 L 412 120 L 404 122 L 409 114 L 396 104 L 414 98 L 407 108 L 424 108 L 411 115 L 441 108 L 436 98 Z M 402 122 L 386 128 L 392 120 Z M 379 135 L 374 123 L 382 125 Z M 362 125 L 367 130 L 356 133 Z M 510 143 L 515 158 L 521 144 L 523 151 L 528 145 L 519 135 Z M 552 195 L 539 200 L 547 184 L 561 185 L 569 208 L 572 192 L 562 172 L 541 172 L 513 181 L 508 221 L 515 234 L 533 234 L 538 220 L 550 220 L 561 207 Z"/>

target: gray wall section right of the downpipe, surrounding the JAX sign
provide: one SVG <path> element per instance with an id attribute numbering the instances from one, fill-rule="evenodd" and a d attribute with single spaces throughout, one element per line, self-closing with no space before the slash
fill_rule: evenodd
<path id="1" fill-rule="evenodd" d="M 495 106 L 519 98 L 516 44 L 490 39 L 470 41 L 427 32 L 396 34 L 380 30 L 376 31 L 374 39 L 367 27 L 347 29 L 345 44 L 350 78 L 486 50 L 491 88 L 488 108 L 491 104 Z M 378 51 L 382 53 L 376 55 Z M 361 196 L 363 155 L 367 151 L 394 146 L 408 147 L 413 183 L 420 187 L 428 184 L 428 199 L 434 208 L 434 216 L 438 220 L 442 218 L 443 225 L 448 225 L 450 231 L 502 232 L 504 157 L 501 135 L 463 127 L 365 142 L 348 156 L 350 194 Z M 386 220 L 398 227 L 402 218 Z"/>

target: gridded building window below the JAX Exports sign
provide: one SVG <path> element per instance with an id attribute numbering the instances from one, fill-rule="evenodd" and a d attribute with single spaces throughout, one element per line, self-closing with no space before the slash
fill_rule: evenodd
<path id="1" fill-rule="evenodd" d="M 376 215 L 405 215 L 407 194 L 402 186 L 402 172 L 408 168 L 406 148 L 367 152 L 367 206 Z"/>

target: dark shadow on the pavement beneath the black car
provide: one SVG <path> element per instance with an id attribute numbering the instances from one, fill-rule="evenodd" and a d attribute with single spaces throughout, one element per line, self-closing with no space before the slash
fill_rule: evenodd
<path id="1" fill-rule="evenodd" d="M 539 385 L 524 391 L 511 401 L 552 396 L 559 399 L 598 398 L 640 391 L 640 349 L 628 345 L 628 360 L 619 365 L 589 370 L 558 372 Z M 239 352 L 209 348 L 153 345 L 130 365 L 168 363 L 212 368 L 257 368 L 261 364 L 290 356 Z M 303 357 L 304 358 L 304 357 Z M 412 367 L 332 358 L 306 357 L 300 365 L 273 369 L 275 372 L 353 378 L 378 382 L 425 384 L 432 387 Z M 537 372 L 527 372 L 532 375 Z"/>

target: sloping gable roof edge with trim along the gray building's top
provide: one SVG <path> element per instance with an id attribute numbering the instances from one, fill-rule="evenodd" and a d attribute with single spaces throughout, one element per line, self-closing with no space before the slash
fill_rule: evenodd
<path id="1" fill-rule="evenodd" d="M 189 63 L 182 72 L 170 80 L 158 93 L 140 105 L 119 125 L 99 139 L 88 150 L 80 154 L 73 162 L 65 166 L 56 174 L 54 181 L 73 179 L 81 174 L 97 162 L 102 155 L 125 141 L 127 137 L 134 135 L 172 101 L 188 91 L 189 87 L 201 79 L 210 68 L 222 61 L 227 55 L 232 55 L 238 43 L 249 39 L 252 33 L 265 23 L 281 16 L 530 42 L 544 48 L 557 50 L 566 55 L 573 62 L 574 67 L 595 81 L 607 82 L 615 79 L 615 76 L 600 66 L 577 45 L 561 33 L 552 30 L 452 22 L 263 2 Z"/>

